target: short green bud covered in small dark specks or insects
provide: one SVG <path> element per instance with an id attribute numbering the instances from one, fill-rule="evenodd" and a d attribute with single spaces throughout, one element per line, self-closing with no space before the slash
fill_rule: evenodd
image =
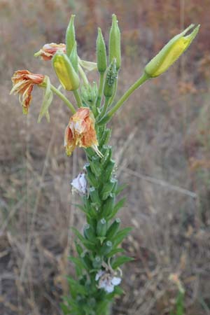
<path id="1" fill-rule="evenodd" d="M 104 96 L 112 97 L 115 90 L 115 81 L 118 77 L 118 72 L 116 70 L 116 58 L 114 58 L 109 66 L 106 73 L 106 80 L 104 84 Z"/>

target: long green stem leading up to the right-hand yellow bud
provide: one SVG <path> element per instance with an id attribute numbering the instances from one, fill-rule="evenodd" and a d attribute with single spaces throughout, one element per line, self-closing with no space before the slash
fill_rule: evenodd
<path id="1" fill-rule="evenodd" d="M 108 123 L 108 121 L 112 118 L 112 116 L 118 111 L 118 109 L 123 105 L 123 103 L 130 97 L 130 95 L 134 92 L 134 90 L 137 90 L 137 88 L 142 85 L 146 80 L 148 80 L 150 76 L 148 76 L 146 73 L 144 73 L 139 80 L 137 80 L 126 92 L 123 94 L 123 96 L 119 99 L 119 101 L 116 103 L 115 106 L 109 111 L 109 113 L 106 115 L 102 120 L 99 122 L 100 124 Z"/>

